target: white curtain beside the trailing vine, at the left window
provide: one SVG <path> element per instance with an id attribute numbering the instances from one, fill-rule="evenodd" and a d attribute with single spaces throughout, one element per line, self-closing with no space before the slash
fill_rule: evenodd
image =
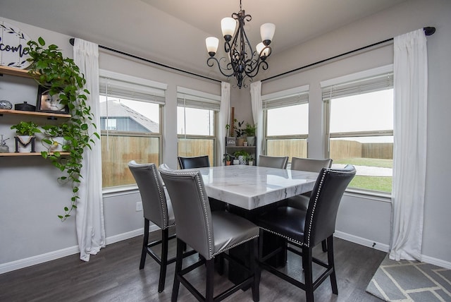
<path id="1" fill-rule="evenodd" d="M 87 102 L 94 114 L 93 123 L 100 133 L 99 110 L 99 47 L 97 44 L 75 39 L 73 58 L 80 71 L 85 74 L 85 88 L 89 90 Z M 93 127 L 91 127 L 93 128 Z M 95 255 L 105 246 L 104 205 L 101 195 L 101 145 L 93 136 L 95 145 L 83 152 L 83 167 L 77 203 L 76 228 L 80 259 L 89 261 L 89 255 Z"/>

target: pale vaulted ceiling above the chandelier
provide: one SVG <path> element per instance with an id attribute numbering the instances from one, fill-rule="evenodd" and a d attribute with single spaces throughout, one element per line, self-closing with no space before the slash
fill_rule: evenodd
<path id="1" fill-rule="evenodd" d="M 242 0 L 242 9 L 252 16 L 246 32 L 254 45 L 261 24 L 276 24 L 276 56 L 403 1 L 408 0 Z M 206 66 L 204 40 L 221 38 L 221 18 L 239 10 L 240 0 L 0 1 L 0 17 L 220 80 L 225 77 L 216 67 Z"/>

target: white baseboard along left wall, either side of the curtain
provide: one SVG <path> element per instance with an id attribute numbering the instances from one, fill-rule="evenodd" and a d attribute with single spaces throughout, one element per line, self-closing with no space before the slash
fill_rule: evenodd
<path id="1" fill-rule="evenodd" d="M 150 231 L 156 231 L 157 229 L 159 229 L 159 227 L 156 227 L 156 225 L 152 225 L 150 227 Z M 133 231 L 128 231 L 123 234 L 107 237 L 105 238 L 105 243 L 108 246 L 109 244 L 116 243 L 118 241 L 123 241 L 125 239 L 132 238 L 135 236 L 140 236 L 142 235 L 142 231 L 144 231 L 144 228 L 135 229 Z M 13 270 L 20 270 L 21 268 L 24 267 L 29 267 L 32 265 L 37 265 L 39 263 L 56 260 L 77 253 L 80 253 L 80 249 L 78 248 L 78 246 L 71 246 L 69 248 L 63 248 L 62 250 L 54 250 L 52 252 L 44 253 L 42 255 L 35 255 L 29 258 L 2 263 L 0 264 L 0 274 L 4 274 L 5 272 L 11 272 Z"/>

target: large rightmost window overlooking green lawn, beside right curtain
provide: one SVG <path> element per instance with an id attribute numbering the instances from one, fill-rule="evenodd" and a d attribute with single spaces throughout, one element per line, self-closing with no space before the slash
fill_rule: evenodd
<path id="1" fill-rule="evenodd" d="M 328 152 L 333 166 L 353 164 L 349 188 L 391 193 L 393 67 L 321 83 L 327 104 Z"/>

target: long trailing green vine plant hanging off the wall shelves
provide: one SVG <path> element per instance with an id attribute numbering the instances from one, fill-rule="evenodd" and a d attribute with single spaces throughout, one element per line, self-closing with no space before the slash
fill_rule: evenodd
<path id="1" fill-rule="evenodd" d="M 72 210 L 77 208 L 83 152 L 88 147 L 92 149 L 95 144 L 94 136 L 100 139 L 95 132 L 97 126 L 93 123 L 94 114 L 87 104 L 89 91 L 84 89 L 85 75 L 80 73 L 80 68 L 73 59 L 63 57 L 61 50 L 55 44 L 45 47 L 42 37 L 36 41 L 29 41 L 28 54 L 31 65 L 28 73 L 32 74 L 39 85 L 49 89 L 49 95 L 58 95 L 61 104 L 69 109 L 70 119 L 58 126 L 43 126 L 49 135 L 61 135 L 66 140 L 63 152 L 69 152 L 67 158 L 61 157 L 60 152 L 41 152 L 42 157 L 49 159 L 51 163 L 65 174 L 58 177 L 58 181 L 70 183 L 72 197 L 70 207 L 64 207 L 63 215 L 58 215 L 61 221 L 70 217 Z M 94 136 L 93 136 L 94 135 Z"/>

